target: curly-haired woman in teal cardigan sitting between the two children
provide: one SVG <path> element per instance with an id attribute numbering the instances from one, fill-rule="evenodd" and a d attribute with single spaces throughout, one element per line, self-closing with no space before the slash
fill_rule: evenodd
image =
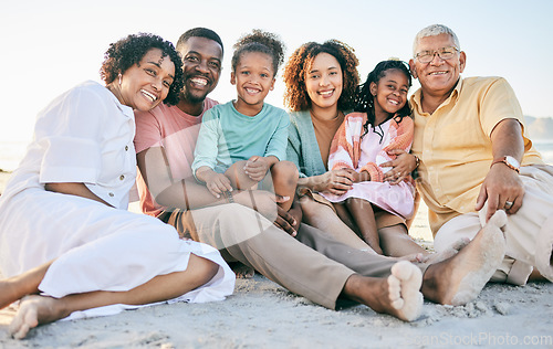
<path id="1" fill-rule="evenodd" d="M 319 192 L 343 194 L 352 188 L 353 173 L 328 170 L 328 151 L 344 115 L 354 106 L 359 83 L 354 50 L 330 40 L 307 42 L 289 59 L 284 68 L 284 103 L 290 108 L 288 160 L 300 170 L 298 194 L 303 221 L 324 230 L 353 247 L 371 247 L 346 225 L 334 205 Z"/>

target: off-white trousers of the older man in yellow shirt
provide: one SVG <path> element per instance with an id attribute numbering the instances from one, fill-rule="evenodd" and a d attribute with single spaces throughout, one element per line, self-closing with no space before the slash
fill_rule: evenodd
<path id="1" fill-rule="evenodd" d="M 524 285 L 535 267 L 553 282 L 553 167 L 524 166 L 520 174 L 525 189 L 522 208 L 508 216 L 505 258 L 491 281 Z M 436 251 L 444 251 L 460 237 L 474 237 L 486 222 L 487 209 L 444 224 L 435 236 Z"/>

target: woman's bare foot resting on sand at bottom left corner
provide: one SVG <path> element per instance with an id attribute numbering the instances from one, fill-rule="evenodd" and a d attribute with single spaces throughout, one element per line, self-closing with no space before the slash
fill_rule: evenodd
<path id="1" fill-rule="evenodd" d="M 19 310 L 10 324 L 10 335 L 15 339 L 23 339 L 29 330 L 39 324 L 49 324 L 66 317 L 61 307 L 61 300 L 44 296 L 25 296 L 21 299 Z"/>

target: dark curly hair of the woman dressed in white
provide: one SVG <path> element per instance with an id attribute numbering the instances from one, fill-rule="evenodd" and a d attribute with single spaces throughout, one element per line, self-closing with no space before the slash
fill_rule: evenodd
<path id="1" fill-rule="evenodd" d="M 180 89 L 184 86 L 182 60 L 173 43 L 158 35 L 149 33 L 131 34 L 109 44 L 109 49 L 104 54 L 100 76 L 106 85 L 111 84 L 117 78 L 118 74 L 124 74 L 133 65 L 139 64 L 144 55 L 152 49 L 161 50 L 163 56 L 169 56 L 173 64 L 175 64 L 175 78 L 164 103 L 177 105 Z"/>

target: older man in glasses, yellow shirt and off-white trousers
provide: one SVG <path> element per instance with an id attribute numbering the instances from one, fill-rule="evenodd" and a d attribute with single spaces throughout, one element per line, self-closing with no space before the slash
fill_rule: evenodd
<path id="1" fill-rule="evenodd" d="M 466 62 L 449 28 L 417 34 L 409 61 L 421 85 L 410 98 L 413 155 L 435 247 L 474 237 L 504 210 L 505 256 L 491 279 L 523 285 L 536 268 L 534 276 L 553 281 L 553 167 L 532 146 L 507 81 L 461 78 Z"/>

